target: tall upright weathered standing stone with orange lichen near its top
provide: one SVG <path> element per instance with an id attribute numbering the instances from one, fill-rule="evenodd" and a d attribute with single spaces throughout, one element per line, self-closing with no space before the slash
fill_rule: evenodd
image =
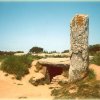
<path id="1" fill-rule="evenodd" d="M 89 19 L 87 15 L 76 15 L 70 24 L 70 69 L 69 82 L 84 78 L 88 72 L 88 33 Z"/>

